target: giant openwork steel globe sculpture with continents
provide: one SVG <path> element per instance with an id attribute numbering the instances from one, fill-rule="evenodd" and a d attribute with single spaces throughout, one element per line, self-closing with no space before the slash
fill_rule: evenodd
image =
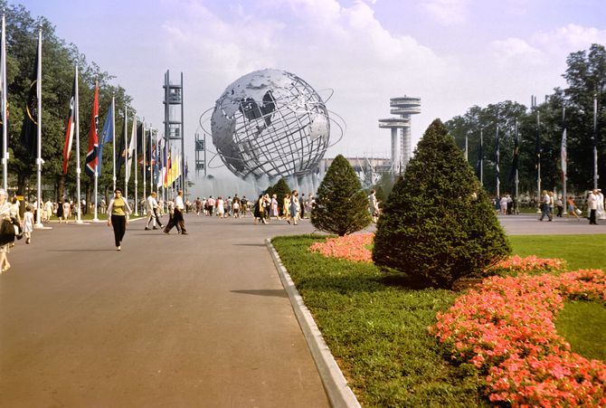
<path id="1" fill-rule="evenodd" d="M 254 71 L 228 86 L 211 118 L 213 145 L 236 176 L 313 173 L 327 151 L 330 120 L 306 81 L 281 70 Z"/>

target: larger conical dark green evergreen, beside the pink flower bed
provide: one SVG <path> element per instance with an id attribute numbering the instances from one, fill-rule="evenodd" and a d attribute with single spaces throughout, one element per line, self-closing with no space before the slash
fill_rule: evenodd
<path id="1" fill-rule="evenodd" d="M 505 233 L 440 119 L 433 121 L 383 204 L 373 261 L 412 287 L 450 288 L 511 253 Z"/>

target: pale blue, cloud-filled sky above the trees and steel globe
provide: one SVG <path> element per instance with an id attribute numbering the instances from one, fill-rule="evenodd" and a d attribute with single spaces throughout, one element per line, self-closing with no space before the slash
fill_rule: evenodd
<path id="1" fill-rule="evenodd" d="M 26 0 L 162 128 L 164 74 L 184 74 L 185 150 L 204 111 L 242 75 L 292 72 L 346 123 L 327 157 L 389 157 L 389 100 L 421 98 L 412 144 L 474 105 L 528 106 L 565 87 L 571 52 L 606 44 L 604 0 Z M 101 108 L 102 109 L 102 108 Z M 210 129 L 210 125 L 206 124 Z M 336 129 L 336 127 L 333 127 Z M 216 159 L 213 165 L 220 164 Z"/>

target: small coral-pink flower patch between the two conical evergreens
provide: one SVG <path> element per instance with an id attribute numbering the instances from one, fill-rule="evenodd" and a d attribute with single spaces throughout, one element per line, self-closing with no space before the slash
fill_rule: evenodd
<path id="1" fill-rule="evenodd" d="M 372 253 L 367 246 L 374 240 L 374 233 L 355 233 L 342 237 L 328 238 L 326 242 L 315 242 L 309 250 L 324 256 L 346 259 L 348 261 L 372 261 Z"/>

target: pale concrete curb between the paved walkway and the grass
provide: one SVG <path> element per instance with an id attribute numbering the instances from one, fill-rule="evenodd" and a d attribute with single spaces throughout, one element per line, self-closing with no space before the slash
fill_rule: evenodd
<path id="1" fill-rule="evenodd" d="M 278 252 L 271 244 L 271 240 L 266 239 L 265 244 L 270 251 L 276 270 L 278 270 L 282 286 L 289 295 L 290 304 L 295 311 L 298 325 L 301 327 L 303 336 L 308 343 L 309 352 L 316 363 L 317 371 L 322 379 L 322 384 L 324 384 L 330 404 L 336 408 L 360 407 L 360 403 L 358 403 L 354 392 L 347 385 L 346 377 L 336 364 L 335 357 L 330 353 L 330 349 L 324 341 L 322 333 L 317 328 L 309 309 L 298 294 L 298 290 L 290 278 L 289 272 L 284 268 L 282 261 L 279 259 Z"/>

